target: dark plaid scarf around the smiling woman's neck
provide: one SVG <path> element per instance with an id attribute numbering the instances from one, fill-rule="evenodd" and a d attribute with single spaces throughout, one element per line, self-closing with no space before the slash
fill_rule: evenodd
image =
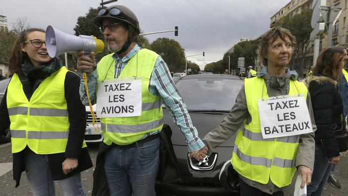
<path id="1" fill-rule="evenodd" d="M 21 69 L 18 71 L 19 79 L 23 85 L 23 91 L 30 100 L 35 90 L 52 73 L 62 67 L 60 59 L 55 57 L 47 63 L 35 67 L 30 59 L 25 59 Z"/>

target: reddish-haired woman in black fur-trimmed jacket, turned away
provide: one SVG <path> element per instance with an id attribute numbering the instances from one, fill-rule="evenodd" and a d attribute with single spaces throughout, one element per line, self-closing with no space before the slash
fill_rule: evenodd
<path id="1" fill-rule="evenodd" d="M 312 183 L 307 196 L 320 196 L 331 168 L 340 161 L 340 149 L 334 135 L 335 127 L 341 127 L 343 103 L 337 90 L 338 76 L 345 65 L 343 49 L 328 48 L 322 51 L 306 79 L 317 131 L 315 132 L 315 161 Z"/>

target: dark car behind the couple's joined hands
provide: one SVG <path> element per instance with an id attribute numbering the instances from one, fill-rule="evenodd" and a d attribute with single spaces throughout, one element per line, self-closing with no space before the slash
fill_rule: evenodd
<path id="1" fill-rule="evenodd" d="M 222 74 L 188 75 L 176 82 L 201 139 L 215 129 L 230 112 L 242 84 L 240 77 Z M 231 166 L 229 169 L 225 166 L 230 163 L 235 136 L 217 147 L 205 162 L 190 159 L 185 137 L 172 121 L 167 109 L 163 110 L 164 123 L 172 130 L 171 139 L 181 179 L 169 184 L 156 182 L 157 193 L 168 196 L 238 194 L 237 188 L 226 182 L 226 178 L 221 180 L 221 176 L 226 176 L 227 172 L 233 170 Z M 229 179 L 233 180 L 231 175 Z"/>

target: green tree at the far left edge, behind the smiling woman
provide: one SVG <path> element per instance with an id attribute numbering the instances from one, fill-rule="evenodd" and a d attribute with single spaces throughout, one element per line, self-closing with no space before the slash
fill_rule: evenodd
<path id="1" fill-rule="evenodd" d="M 16 38 L 17 33 L 15 31 L 0 30 L 0 64 L 8 64 Z"/>

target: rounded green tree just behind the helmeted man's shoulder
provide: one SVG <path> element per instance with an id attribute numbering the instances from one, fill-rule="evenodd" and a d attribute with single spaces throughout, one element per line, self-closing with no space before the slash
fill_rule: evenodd
<path id="1" fill-rule="evenodd" d="M 185 52 L 173 39 L 158 38 L 150 44 L 150 49 L 162 56 L 171 72 L 183 72 L 185 69 Z"/>

